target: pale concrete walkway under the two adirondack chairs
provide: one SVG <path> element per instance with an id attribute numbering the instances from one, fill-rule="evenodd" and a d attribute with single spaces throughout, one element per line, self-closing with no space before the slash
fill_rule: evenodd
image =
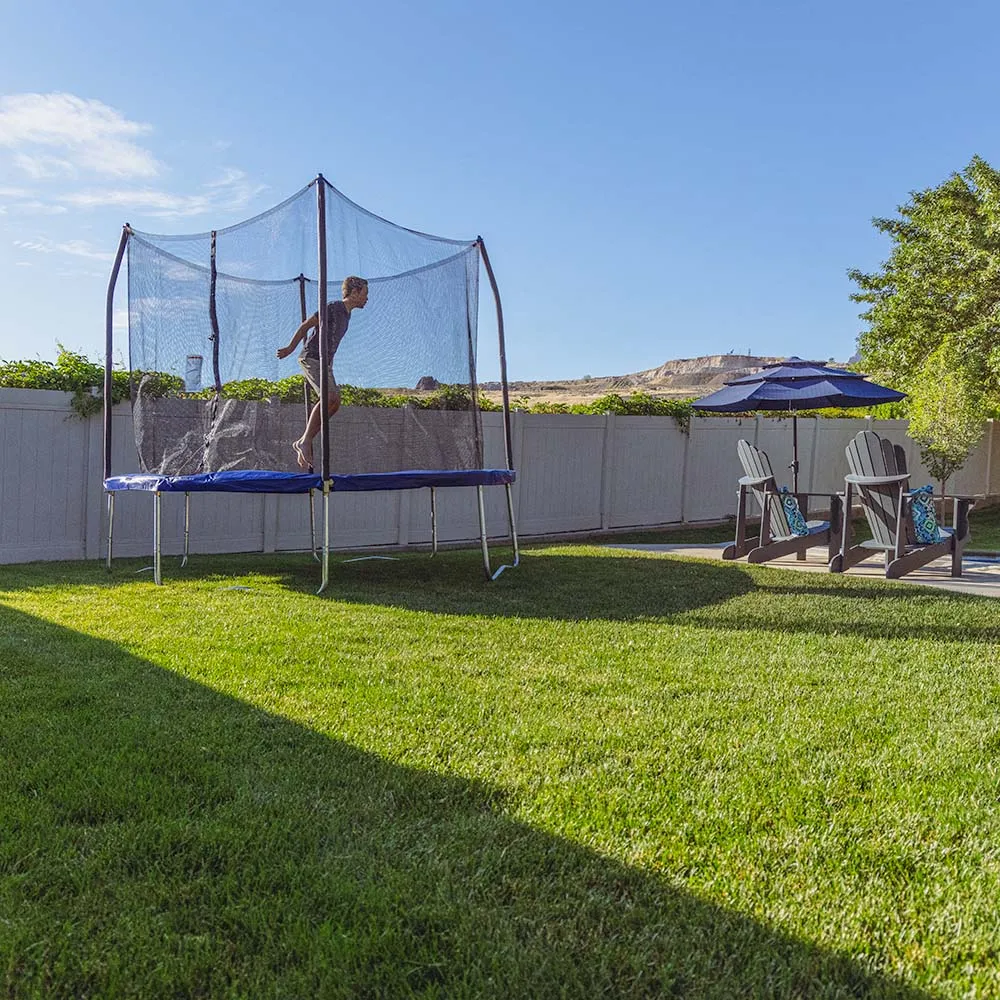
<path id="1" fill-rule="evenodd" d="M 630 549 L 640 552 L 666 552 L 676 556 L 693 556 L 697 559 L 717 559 L 722 561 L 722 550 L 728 543 L 717 545 L 609 545 L 610 549 Z M 746 559 L 737 559 L 727 565 L 746 565 Z M 805 562 L 800 562 L 794 555 L 782 556 L 763 563 L 780 569 L 795 569 L 806 573 L 828 573 L 826 563 L 826 546 L 817 546 L 806 553 Z M 844 576 L 866 577 L 870 579 L 885 579 L 885 564 L 882 556 L 873 555 L 870 559 L 852 566 Z M 912 583 L 920 587 L 938 587 L 941 590 L 952 590 L 958 594 L 975 594 L 979 597 L 1000 597 L 1000 560 L 986 556 L 969 556 L 962 560 L 962 575 L 951 575 L 951 558 L 948 556 L 935 559 L 934 562 L 921 566 L 912 573 L 907 573 L 899 583 Z"/>

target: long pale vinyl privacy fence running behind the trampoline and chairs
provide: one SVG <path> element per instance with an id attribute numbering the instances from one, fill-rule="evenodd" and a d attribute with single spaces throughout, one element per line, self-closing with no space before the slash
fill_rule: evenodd
<path id="1" fill-rule="evenodd" d="M 0 389 L 0 563 L 36 559 L 94 559 L 104 551 L 106 495 L 102 489 L 101 418 L 81 420 L 66 393 Z M 500 414 L 483 414 L 486 466 L 500 468 Z M 906 437 L 906 421 L 800 418 L 799 487 L 815 493 L 843 487 L 844 449 L 865 427 L 907 448 L 919 468 L 919 449 Z M 695 418 L 684 434 L 671 417 L 511 415 L 517 484 L 514 505 L 521 537 L 718 521 L 736 506 L 740 438 L 771 456 L 779 480 L 791 461 L 788 419 Z M 114 414 L 116 474 L 137 470 L 132 416 Z M 992 421 L 949 492 L 1000 494 L 1000 434 Z M 930 477 L 917 473 L 918 483 Z M 504 491 L 487 489 L 491 536 L 506 533 Z M 473 488 L 442 489 L 438 529 L 442 542 L 479 536 Z M 183 544 L 182 495 L 164 496 L 164 552 Z M 317 503 L 317 514 L 319 504 Z M 426 490 L 335 494 L 332 544 L 338 549 L 429 543 Z M 816 505 L 813 505 L 816 509 Z M 309 501 L 303 496 L 193 494 L 191 551 L 245 552 L 308 548 Z M 153 502 L 148 493 L 119 493 L 116 554 L 152 549 Z"/>

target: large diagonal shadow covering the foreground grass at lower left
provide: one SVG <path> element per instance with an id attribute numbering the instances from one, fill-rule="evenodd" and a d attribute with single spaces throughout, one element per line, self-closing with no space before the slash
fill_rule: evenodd
<path id="1" fill-rule="evenodd" d="M 926 997 L 105 641 L 0 653 L 8 997 Z"/>

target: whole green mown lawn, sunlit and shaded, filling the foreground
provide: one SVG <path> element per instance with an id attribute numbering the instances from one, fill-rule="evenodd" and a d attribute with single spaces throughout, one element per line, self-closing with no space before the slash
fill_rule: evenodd
<path id="1" fill-rule="evenodd" d="M 479 560 L 0 567 L 0 995 L 1000 996 L 1000 606 Z"/>

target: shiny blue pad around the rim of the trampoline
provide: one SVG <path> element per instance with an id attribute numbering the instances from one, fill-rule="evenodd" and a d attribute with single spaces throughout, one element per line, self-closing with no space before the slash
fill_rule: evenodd
<path id="1" fill-rule="evenodd" d="M 513 469 L 409 469 L 405 472 L 366 472 L 333 475 L 333 492 L 414 490 L 425 486 L 506 486 L 514 482 Z M 308 493 L 321 489 L 323 479 L 314 473 L 270 472 L 247 469 L 236 472 L 202 472 L 194 476 L 156 476 L 132 473 L 104 480 L 109 492 L 146 490 L 151 493 Z"/>

